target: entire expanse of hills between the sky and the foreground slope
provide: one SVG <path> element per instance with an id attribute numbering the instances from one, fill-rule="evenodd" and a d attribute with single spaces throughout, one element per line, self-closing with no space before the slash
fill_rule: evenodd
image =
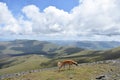
<path id="1" fill-rule="evenodd" d="M 71 41 L 68 41 L 70 44 Z M 61 43 L 61 44 L 60 44 Z M 84 42 L 86 48 L 67 41 L 14 40 L 0 42 L 0 75 L 19 71 L 53 67 L 58 61 L 73 59 L 78 63 L 120 58 L 119 42 Z M 73 42 L 76 43 L 76 42 Z M 83 43 L 83 42 L 78 42 Z M 89 43 L 89 44 L 87 44 Z M 100 44 L 101 43 L 101 44 Z M 95 45 L 97 44 L 97 45 Z M 109 44 L 105 46 L 105 44 Z M 116 45 L 115 45 L 116 44 Z M 94 50 L 90 46 L 98 46 Z M 102 46 L 102 48 L 101 48 Z M 110 49 L 113 47 L 112 49 Z M 105 49 L 103 49 L 105 48 Z M 28 68 L 28 65 L 29 68 Z"/>

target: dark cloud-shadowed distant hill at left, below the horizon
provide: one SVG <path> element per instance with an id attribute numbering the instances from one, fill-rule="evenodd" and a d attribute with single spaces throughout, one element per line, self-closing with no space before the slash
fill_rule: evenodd
<path id="1" fill-rule="evenodd" d="M 40 54 L 48 57 L 72 54 L 83 49 L 74 46 L 59 46 L 47 41 L 37 40 L 14 40 L 0 42 L 0 55 L 21 56 Z"/>

